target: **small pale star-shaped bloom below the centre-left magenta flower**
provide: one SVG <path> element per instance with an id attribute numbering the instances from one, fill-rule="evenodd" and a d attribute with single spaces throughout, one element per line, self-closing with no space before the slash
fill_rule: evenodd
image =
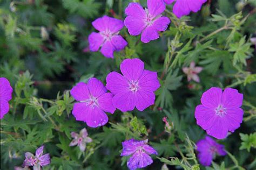
<path id="1" fill-rule="evenodd" d="M 71 132 L 71 137 L 74 138 L 71 143 L 69 144 L 69 146 L 79 146 L 80 151 L 84 152 L 85 151 L 85 147 L 86 147 L 86 143 L 91 143 L 92 142 L 92 138 L 88 137 L 88 133 L 87 130 L 84 128 L 82 129 L 79 134 L 76 132 Z"/>

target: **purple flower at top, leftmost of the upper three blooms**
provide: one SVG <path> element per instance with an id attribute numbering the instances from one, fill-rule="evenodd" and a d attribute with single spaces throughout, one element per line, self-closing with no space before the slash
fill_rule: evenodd
<path id="1" fill-rule="evenodd" d="M 124 49 L 127 42 L 119 36 L 119 31 L 124 27 L 122 20 L 104 16 L 92 22 L 99 33 L 92 32 L 88 38 L 91 51 L 98 51 L 106 58 L 114 58 L 113 52 Z"/>

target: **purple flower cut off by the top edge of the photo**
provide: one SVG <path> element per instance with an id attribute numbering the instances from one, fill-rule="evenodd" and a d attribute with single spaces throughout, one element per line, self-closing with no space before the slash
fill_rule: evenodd
<path id="1" fill-rule="evenodd" d="M 174 0 L 164 0 L 166 4 L 171 4 Z M 173 6 L 173 13 L 178 17 L 183 17 L 190 12 L 198 12 L 201 6 L 207 2 L 207 0 L 177 0 Z"/>

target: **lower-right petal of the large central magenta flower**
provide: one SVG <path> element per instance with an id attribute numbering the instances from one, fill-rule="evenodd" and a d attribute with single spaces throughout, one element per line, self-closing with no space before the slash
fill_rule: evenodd
<path id="1" fill-rule="evenodd" d="M 135 94 L 135 105 L 139 111 L 145 110 L 150 105 L 154 104 L 156 96 L 151 91 L 138 90 Z"/>

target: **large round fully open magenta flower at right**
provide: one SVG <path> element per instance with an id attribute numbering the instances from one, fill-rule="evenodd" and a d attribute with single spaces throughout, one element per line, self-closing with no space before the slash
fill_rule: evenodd
<path id="1" fill-rule="evenodd" d="M 228 131 L 234 132 L 242 123 L 242 98 L 242 94 L 233 88 L 226 88 L 224 92 L 220 88 L 210 88 L 202 95 L 202 104 L 196 107 L 197 124 L 208 135 L 225 138 Z"/>

